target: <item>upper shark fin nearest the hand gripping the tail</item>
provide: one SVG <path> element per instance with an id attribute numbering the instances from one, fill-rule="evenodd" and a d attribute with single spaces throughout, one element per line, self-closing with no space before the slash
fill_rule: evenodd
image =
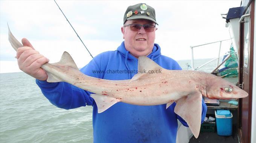
<path id="1" fill-rule="evenodd" d="M 78 69 L 78 67 L 76 66 L 75 61 L 73 60 L 73 58 L 70 56 L 70 54 L 68 52 L 63 52 L 62 56 L 61 56 L 61 60 L 59 60 L 58 63 L 53 63 L 53 65 L 56 66 L 68 66 L 68 67 L 72 67 L 73 69 Z"/>

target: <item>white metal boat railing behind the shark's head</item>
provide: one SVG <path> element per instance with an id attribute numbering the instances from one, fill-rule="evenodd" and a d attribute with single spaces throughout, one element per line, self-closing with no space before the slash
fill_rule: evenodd
<path id="1" fill-rule="evenodd" d="M 229 55 L 229 54 L 230 54 L 230 53 L 227 53 L 227 54 L 224 54 L 224 55 L 221 55 L 221 56 L 220 56 L 220 52 L 221 52 L 221 43 L 222 43 L 222 41 L 227 41 L 227 40 L 231 40 L 231 39 L 220 40 L 220 41 L 205 43 L 205 44 L 196 45 L 196 46 L 190 46 L 190 48 L 191 48 L 191 65 L 192 65 L 191 68 L 192 68 L 192 70 L 198 70 L 198 69 L 200 69 L 201 67 L 203 67 L 203 66 L 205 66 L 205 65 L 207 65 L 207 64 L 209 64 L 209 63 L 211 63 L 212 61 L 215 61 L 216 59 L 218 59 L 218 60 L 217 60 L 217 63 L 216 63 L 216 67 L 219 66 L 219 58 L 220 58 L 220 57 L 223 57 L 223 56 L 225 56 L 225 55 Z M 202 64 L 201 66 L 195 68 L 195 64 L 194 64 L 194 48 L 200 47 L 200 46 L 204 46 L 204 45 L 213 44 L 213 43 L 218 43 L 218 42 L 219 42 L 219 52 L 218 52 L 218 56 L 217 56 L 216 58 L 214 58 L 214 59 L 212 59 L 212 60 L 210 60 L 210 61 L 208 61 L 208 62 Z"/>

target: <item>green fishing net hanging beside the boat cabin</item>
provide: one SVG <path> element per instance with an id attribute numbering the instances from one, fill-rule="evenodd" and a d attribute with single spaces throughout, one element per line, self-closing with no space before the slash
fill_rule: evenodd
<path id="1" fill-rule="evenodd" d="M 226 70 L 219 72 L 219 75 L 220 76 L 226 75 L 226 77 L 237 77 L 238 76 L 238 56 L 232 44 L 229 50 L 230 50 L 231 57 L 226 61 L 224 65 L 226 67 Z"/>

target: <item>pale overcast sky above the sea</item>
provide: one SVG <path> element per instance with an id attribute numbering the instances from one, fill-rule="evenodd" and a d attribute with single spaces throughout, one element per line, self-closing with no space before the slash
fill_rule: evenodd
<path id="1" fill-rule="evenodd" d="M 123 41 L 123 15 L 138 1 L 56 0 L 85 46 L 95 57 L 114 51 Z M 230 39 L 226 19 L 221 13 L 239 7 L 240 0 L 169 0 L 140 1 L 154 7 L 158 30 L 155 43 L 161 53 L 174 60 L 190 60 L 190 46 Z M 78 67 L 92 58 L 76 36 L 53 0 L 0 0 L 0 73 L 20 72 L 16 52 L 8 41 L 9 24 L 19 40 L 26 37 L 34 48 L 58 62 L 67 51 Z M 228 51 L 231 41 L 222 42 L 221 54 Z M 215 58 L 219 43 L 194 49 L 194 58 Z"/>

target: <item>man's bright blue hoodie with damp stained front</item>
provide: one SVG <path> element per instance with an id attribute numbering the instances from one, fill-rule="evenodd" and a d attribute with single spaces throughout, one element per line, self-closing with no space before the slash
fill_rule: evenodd
<path id="1" fill-rule="evenodd" d="M 178 63 L 161 55 L 160 46 L 154 44 L 151 60 L 168 70 L 181 70 Z M 81 72 L 92 77 L 109 80 L 131 79 L 136 73 L 138 59 L 125 49 L 124 42 L 116 51 L 97 55 Z M 111 73 L 110 71 L 130 71 L 129 73 Z M 98 72 L 97 72 L 98 71 Z M 107 72 L 108 71 L 108 72 Z M 186 127 L 187 123 L 174 113 L 175 103 L 168 109 L 166 104 L 156 106 L 137 106 L 116 103 L 102 113 L 91 92 L 84 91 L 66 82 L 48 83 L 36 80 L 44 96 L 55 106 L 73 109 L 81 106 L 93 106 L 93 141 L 94 143 L 175 143 L 177 119 Z M 206 116 L 206 104 L 202 102 L 202 122 Z"/>

